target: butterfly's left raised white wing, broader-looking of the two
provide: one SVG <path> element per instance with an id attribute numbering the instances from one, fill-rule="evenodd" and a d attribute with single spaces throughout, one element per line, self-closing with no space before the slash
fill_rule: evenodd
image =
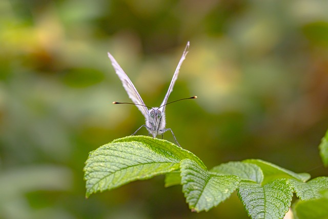
<path id="1" fill-rule="evenodd" d="M 123 85 L 124 89 L 127 91 L 130 99 L 135 104 L 144 105 L 144 106 L 136 105 L 136 107 L 138 107 L 138 109 L 141 111 L 142 115 L 144 115 L 147 118 L 148 108 L 145 106 L 144 101 L 142 101 L 140 94 L 138 93 L 137 89 L 135 89 L 130 78 L 123 71 L 123 69 L 118 65 L 118 63 L 116 62 L 115 58 L 111 55 L 111 53 L 108 53 L 108 57 L 111 59 L 112 66 L 114 67 L 115 72 L 118 75 L 119 79 L 121 80 L 122 85 Z"/>

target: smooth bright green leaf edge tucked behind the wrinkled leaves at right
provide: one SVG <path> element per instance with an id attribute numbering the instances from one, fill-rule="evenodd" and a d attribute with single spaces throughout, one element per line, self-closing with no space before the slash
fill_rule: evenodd
<path id="1" fill-rule="evenodd" d="M 294 173 L 293 171 L 262 160 L 249 159 L 242 162 L 256 164 L 261 168 L 264 174 L 262 184 L 269 183 L 277 180 L 278 178 L 295 178 L 296 180 L 306 182 L 311 177 L 309 173 Z"/>

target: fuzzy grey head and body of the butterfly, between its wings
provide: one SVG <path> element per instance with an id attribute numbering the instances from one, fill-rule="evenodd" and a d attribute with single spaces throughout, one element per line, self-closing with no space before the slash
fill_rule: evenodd
<path id="1" fill-rule="evenodd" d="M 163 129 L 165 129 L 165 113 L 159 110 L 157 107 L 151 108 L 148 113 L 148 117 L 146 118 L 146 126 L 149 133 L 156 137 L 163 133 Z"/>

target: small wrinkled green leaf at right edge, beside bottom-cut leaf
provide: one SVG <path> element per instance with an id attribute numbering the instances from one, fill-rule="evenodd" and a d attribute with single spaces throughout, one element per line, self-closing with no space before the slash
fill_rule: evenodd
<path id="1" fill-rule="evenodd" d="M 303 183 L 296 180 L 290 180 L 291 186 L 294 188 L 296 196 L 300 200 L 310 200 L 321 198 L 321 191 L 328 189 L 328 177 L 320 176 L 313 180 Z"/>

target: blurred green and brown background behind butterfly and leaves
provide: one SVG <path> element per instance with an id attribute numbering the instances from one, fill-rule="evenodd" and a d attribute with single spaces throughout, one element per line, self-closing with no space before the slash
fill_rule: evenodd
<path id="1" fill-rule="evenodd" d="M 85 199 L 88 152 L 144 118 L 107 57 L 144 102 L 167 107 L 180 145 L 212 168 L 261 158 L 327 175 L 327 1 L 0 2 L 0 218 L 247 218 L 234 193 L 191 213 L 163 176 Z M 141 130 L 139 134 L 146 134 Z M 174 142 L 170 133 L 164 138 Z"/>

